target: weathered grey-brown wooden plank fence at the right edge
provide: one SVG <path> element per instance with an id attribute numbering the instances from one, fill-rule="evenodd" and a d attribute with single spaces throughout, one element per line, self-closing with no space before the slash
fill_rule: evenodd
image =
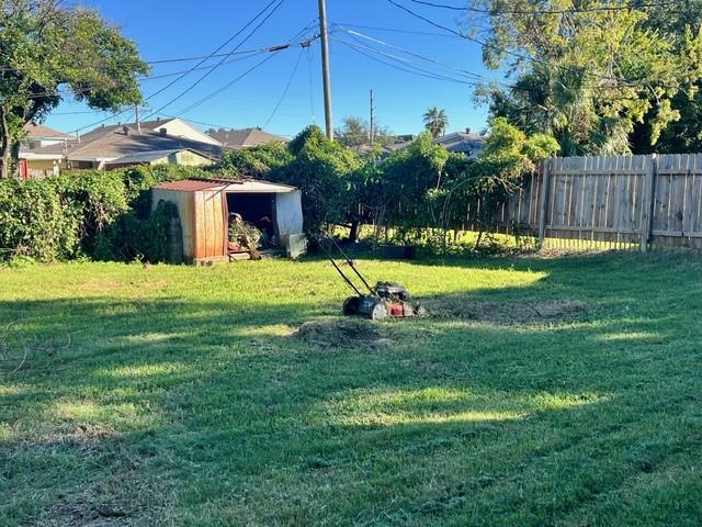
<path id="1" fill-rule="evenodd" d="M 702 154 L 559 157 L 495 218 L 546 239 L 702 248 Z"/>

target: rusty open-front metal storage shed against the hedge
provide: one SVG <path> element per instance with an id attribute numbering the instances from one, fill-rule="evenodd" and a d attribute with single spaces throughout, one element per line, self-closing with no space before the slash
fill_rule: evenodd
<path id="1" fill-rule="evenodd" d="M 295 187 L 254 179 L 185 179 L 155 187 L 152 208 L 161 200 L 178 209 L 186 261 L 229 258 L 228 222 L 233 213 L 245 222 L 272 222 L 278 246 L 290 257 L 306 249 L 301 192 Z"/>

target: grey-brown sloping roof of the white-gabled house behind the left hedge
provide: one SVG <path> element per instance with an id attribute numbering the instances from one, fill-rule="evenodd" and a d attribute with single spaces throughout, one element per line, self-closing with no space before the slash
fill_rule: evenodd
<path id="1" fill-rule="evenodd" d="M 189 149 L 211 159 L 222 157 L 223 147 L 200 141 L 160 134 L 141 126 L 141 132 L 125 126 L 104 126 L 67 145 L 49 145 L 35 148 L 35 154 L 65 154 L 68 159 L 115 161 L 137 154 Z M 162 156 L 161 156 L 162 157 Z M 122 161 L 121 161 L 122 162 Z"/>

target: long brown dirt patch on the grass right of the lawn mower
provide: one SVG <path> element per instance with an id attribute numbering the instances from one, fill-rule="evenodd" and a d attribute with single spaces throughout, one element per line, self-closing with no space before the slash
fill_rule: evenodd
<path id="1" fill-rule="evenodd" d="M 435 318 L 490 322 L 492 324 L 528 324 L 574 319 L 588 311 L 585 302 L 574 299 L 531 299 L 514 302 L 435 298 L 423 300 L 429 315 Z"/>

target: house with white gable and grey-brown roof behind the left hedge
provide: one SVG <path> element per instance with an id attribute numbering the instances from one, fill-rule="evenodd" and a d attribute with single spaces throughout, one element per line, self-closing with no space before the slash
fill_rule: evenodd
<path id="1" fill-rule="evenodd" d="M 173 119 L 100 126 L 78 139 L 35 148 L 26 159 L 52 159 L 68 170 L 103 170 L 131 165 L 211 165 L 223 152 L 205 133 Z"/>

